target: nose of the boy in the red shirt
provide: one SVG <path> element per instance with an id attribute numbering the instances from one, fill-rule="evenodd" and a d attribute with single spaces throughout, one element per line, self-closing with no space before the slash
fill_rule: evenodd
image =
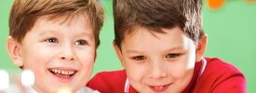
<path id="1" fill-rule="evenodd" d="M 154 79 L 165 78 L 168 75 L 168 70 L 164 62 L 155 61 L 151 64 L 150 77 Z"/>

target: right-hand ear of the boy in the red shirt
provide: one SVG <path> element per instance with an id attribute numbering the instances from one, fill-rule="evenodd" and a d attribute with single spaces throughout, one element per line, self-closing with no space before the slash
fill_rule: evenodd
<path id="1" fill-rule="evenodd" d="M 198 44 L 196 46 L 196 50 L 195 50 L 195 61 L 199 62 L 200 60 L 202 60 L 205 52 L 206 52 L 206 48 L 207 48 L 207 40 L 208 40 L 208 35 L 204 34 L 198 41 Z"/>

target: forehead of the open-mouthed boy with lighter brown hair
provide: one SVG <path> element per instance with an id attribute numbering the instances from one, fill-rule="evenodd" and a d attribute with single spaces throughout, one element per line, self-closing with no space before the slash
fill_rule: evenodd
<path id="1" fill-rule="evenodd" d="M 25 37 L 31 36 L 57 34 L 62 36 L 82 36 L 87 35 L 94 39 L 94 32 L 88 17 L 83 14 L 74 16 L 60 16 L 54 19 L 50 16 L 39 17 L 32 29 L 26 33 Z"/>

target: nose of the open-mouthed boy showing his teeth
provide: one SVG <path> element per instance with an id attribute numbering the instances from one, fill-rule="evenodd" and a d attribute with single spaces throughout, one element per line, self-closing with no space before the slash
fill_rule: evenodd
<path id="1" fill-rule="evenodd" d="M 74 60 L 74 49 L 72 46 L 62 46 L 60 60 Z"/>

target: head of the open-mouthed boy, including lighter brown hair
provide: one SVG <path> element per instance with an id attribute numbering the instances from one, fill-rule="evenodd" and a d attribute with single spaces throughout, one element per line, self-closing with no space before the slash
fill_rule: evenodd
<path id="1" fill-rule="evenodd" d="M 88 82 L 103 11 L 96 0 L 15 0 L 7 50 L 13 63 L 34 72 L 34 89 L 73 91 Z"/>

